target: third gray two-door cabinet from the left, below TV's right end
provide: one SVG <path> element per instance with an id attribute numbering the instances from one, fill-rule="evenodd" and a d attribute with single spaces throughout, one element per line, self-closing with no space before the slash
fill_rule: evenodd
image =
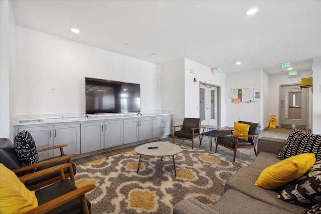
<path id="1" fill-rule="evenodd" d="M 152 138 L 151 117 L 125 119 L 123 121 L 124 144 Z"/>

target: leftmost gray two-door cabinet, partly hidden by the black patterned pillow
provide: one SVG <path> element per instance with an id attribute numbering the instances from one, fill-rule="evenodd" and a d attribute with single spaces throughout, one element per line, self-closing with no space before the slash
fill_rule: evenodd
<path id="1" fill-rule="evenodd" d="M 27 130 L 35 140 L 37 148 L 46 148 L 61 144 L 67 144 L 64 147 L 65 154 L 80 154 L 80 124 L 63 125 L 24 125 L 16 127 L 15 134 Z M 59 155 L 60 150 L 54 149 L 39 153 L 39 158 L 44 159 Z"/>

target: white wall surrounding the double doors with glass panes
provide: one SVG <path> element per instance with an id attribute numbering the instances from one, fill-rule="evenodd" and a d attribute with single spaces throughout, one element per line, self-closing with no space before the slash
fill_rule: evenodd
<path id="1" fill-rule="evenodd" d="M 200 82 L 221 87 L 221 126 L 225 126 L 225 74 L 189 59 L 185 59 L 185 117 L 200 117 Z"/>

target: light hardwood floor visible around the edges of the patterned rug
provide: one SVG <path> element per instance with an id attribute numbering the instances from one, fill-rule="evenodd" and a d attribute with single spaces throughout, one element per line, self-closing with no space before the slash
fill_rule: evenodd
<path id="1" fill-rule="evenodd" d="M 287 136 L 289 135 L 289 133 L 292 131 L 292 129 L 285 129 L 285 128 L 266 128 L 264 130 L 262 130 L 260 132 L 259 137 L 269 137 L 269 138 L 275 138 L 275 139 L 286 139 Z M 173 137 L 168 137 L 168 138 L 164 138 L 158 141 L 169 141 L 169 142 L 173 142 Z M 182 140 L 176 140 L 175 141 L 176 144 L 178 145 L 188 145 L 191 146 L 191 141 L 185 141 L 183 142 Z M 138 144 L 140 145 L 140 144 Z M 74 159 L 74 163 L 76 165 L 82 164 L 82 163 L 87 163 L 90 161 L 94 161 L 94 160 L 98 160 L 98 159 L 102 159 L 102 158 L 106 158 L 109 156 L 113 156 L 116 154 L 120 154 L 120 153 L 124 153 L 127 151 L 131 151 L 133 150 L 136 146 L 138 145 L 134 145 L 134 146 L 128 146 L 125 148 L 120 148 L 120 149 L 115 149 L 115 150 L 111 150 L 111 151 L 107 151 L 107 152 L 103 152 L 103 153 L 99 153 L 99 154 L 95 154 L 95 155 L 90 155 L 90 156 L 86 156 L 86 157 L 82 157 L 82 158 L 77 158 Z M 200 146 L 200 141 L 198 138 L 195 139 L 194 141 L 194 147 L 196 148 L 201 148 L 204 149 L 208 152 L 210 152 L 210 146 L 209 146 L 209 141 L 208 141 L 208 137 L 204 136 L 202 144 Z M 213 145 L 212 145 L 212 152 L 215 152 L 215 143 L 213 141 Z M 229 157 L 233 157 L 233 151 L 226 149 L 222 146 L 218 146 L 218 151 L 217 153 L 219 154 L 223 154 Z M 255 158 L 255 153 L 253 151 L 253 149 L 238 149 L 237 153 L 236 153 L 236 158 L 237 159 L 241 159 L 241 160 L 246 160 L 246 161 L 252 161 Z"/>

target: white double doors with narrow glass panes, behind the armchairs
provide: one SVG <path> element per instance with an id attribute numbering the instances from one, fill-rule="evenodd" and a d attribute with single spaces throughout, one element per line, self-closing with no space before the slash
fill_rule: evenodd
<path id="1" fill-rule="evenodd" d="M 200 84 L 200 118 L 202 125 L 220 127 L 220 87 Z"/>

